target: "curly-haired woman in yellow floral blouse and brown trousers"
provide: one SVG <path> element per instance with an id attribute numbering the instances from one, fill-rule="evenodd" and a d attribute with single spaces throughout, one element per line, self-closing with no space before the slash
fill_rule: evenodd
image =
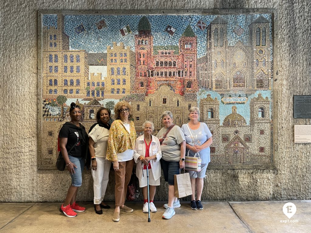
<path id="1" fill-rule="evenodd" d="M 131 105 L 120 101 L 114 107 L 114 118 L 109 130 L 108 149 L 106 159 L 114 164 L 115 176 L 115 210 L 112 220 L 120 220 L 120 210 L 133 212 L 132 208 L 124 205 L 128 183 L 130 182 L 134 165 L 134 148 L 136 131 L 132 117 Z"/>

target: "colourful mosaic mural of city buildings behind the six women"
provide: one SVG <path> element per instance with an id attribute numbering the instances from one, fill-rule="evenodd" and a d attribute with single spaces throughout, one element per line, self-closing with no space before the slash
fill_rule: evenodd
<path id="1" fill-rule="evenodd" d="M 97 109 L 119 100 L 131 102 L 138 135 L 145 120 L 156 134 L 166 110 L 181 126 L 197 106 L 213 134 L 210 164 L 272 164 L 272 22 L 272 14 L 42 15 L 39 169 L 55 168 L 71 102 L 88 130 Z"/>

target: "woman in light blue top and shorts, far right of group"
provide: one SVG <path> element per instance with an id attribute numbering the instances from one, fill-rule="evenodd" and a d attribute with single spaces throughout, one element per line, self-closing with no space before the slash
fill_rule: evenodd
<path id="1" fill-rule="evenodd" d="M 210 145 L 213 142 L 211 131 L 204 122 L 199 121 L 199 114 L 198 107 L 191 107 L 189 109 L 190 121 L 181 127 L 186 138 L 186 155 L 194 156 L 199 153 L 202 159 L 201 171 L 189 171 L 192 187 L 190 207 L 193 210 L 203 209 L 201 203 L 203 178 L 207 165 L 211 161 Z M 195 191 L 197 191 L 197 198 L 195 198 Z"/>

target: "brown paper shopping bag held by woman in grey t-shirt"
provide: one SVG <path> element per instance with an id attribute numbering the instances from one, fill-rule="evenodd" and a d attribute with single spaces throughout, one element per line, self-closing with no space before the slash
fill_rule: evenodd
<path id="1" fill-rule="evenodd" d="M 174 175 L 175 197 L 181 198 L 192 194 L 189 173 Z"/>

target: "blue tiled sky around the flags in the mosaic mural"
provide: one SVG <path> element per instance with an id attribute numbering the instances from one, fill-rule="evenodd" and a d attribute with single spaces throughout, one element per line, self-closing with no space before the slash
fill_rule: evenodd
<path id="1" fill-rule="evenodd" d="M 229 46 L 233 46 L 239 40 L 248 44 L 248 25 L 260 15 L 222 15 L 228 21 L 227 36 Z M 268 21 L 272 21 L 270 14 L 263 14 Z M 142 15 L 65 15 L 65 32 L 69 35 L 69 46 L 71 50 L 86 50 L 88 53 L 104 53 L 107 46 L 112 46 L 112 42 L 123 42 L 134 51 L 134 34 L 137 34 L 137 25 Z M 207 25 L 216 15 L 147 15 L 151 24 L 151 33 L 154 36 L 154 46 L 178 45 L 178 40 L 186 27 L 190 24 L 197 35 L 197 57 L 202 57 L 206 53 L 206 32 L 197 27 L 199 20 Z M 96 22 L 105 20 L 107 28 L 97 29 Z M 75 28 L 83 24 L 86 31 L 77 34 Z M 57 15 L 44 15 L 44 26 L 57 27 Z M 122 36 L 120 29 L 129 25 L 132 34 Z M 165 32 L 167 25 L 173 26 L 176 32 L 173 36 Z M 235 34 L 231 25 L 240 25 L 244 29 L 241 36 Z M 270 38 L 272 26 L 270 24 Z"/>

